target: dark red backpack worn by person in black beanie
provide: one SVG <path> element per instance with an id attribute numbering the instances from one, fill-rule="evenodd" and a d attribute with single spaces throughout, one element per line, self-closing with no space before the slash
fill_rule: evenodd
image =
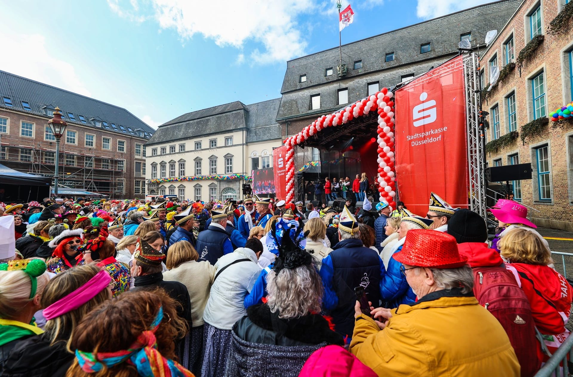
<path id="1" fill-rule="evenodd" d="M 515 276 L 505 267 L 474 267 L 476 299 L 501 323 L 521 365 L 521 377 L 540 368 L 531 306 Z"/>

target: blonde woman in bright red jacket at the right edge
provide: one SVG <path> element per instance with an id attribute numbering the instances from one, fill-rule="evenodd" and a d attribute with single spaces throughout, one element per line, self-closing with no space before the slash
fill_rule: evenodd
<path id="1" fill-rule="evenodd" d="M 549 356 L 542 348 L 546 346 L 553 354 L 570 334 L 565 324 L 573 300 L 571 286 L 559 272 L 548 267 L 553 263 L 551 251 L 536 233 L 513 229 L 498 245 L 501 256 L 508 261 L 507 268 L 529 300 L 535 326 L 544 335 L 544 344 L 537 344 L 537 356 L 546 362 Z"/>

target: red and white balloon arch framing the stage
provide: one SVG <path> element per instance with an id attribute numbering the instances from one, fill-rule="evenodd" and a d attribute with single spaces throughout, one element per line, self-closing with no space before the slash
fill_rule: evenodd
<path id="1" fill-rule="evenodd" d="M 306 126 L 301 132 L 284 140 L 286 146 L 286 201 L 295 197 L 295 145 L 301 144 L 313 134 L 327 127 L 346 124 L 357 117 L 378 111 L 378 191 L 379 200 L 396 208 L 396 170 L 394 167 L 394 94 L 383 88 L 376 94 L 356 101 L 337 113 L 323 115 Z"/>

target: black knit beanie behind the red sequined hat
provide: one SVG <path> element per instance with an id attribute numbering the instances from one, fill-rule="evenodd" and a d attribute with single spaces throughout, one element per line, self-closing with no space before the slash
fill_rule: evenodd
<path id="1" fill-rule="evenodd" d="M 485 242 L 488 240 L 488 227 L 476 212 L 458 209 L 448 221 L 448 234 L 454 236 L 458 244 Z"/>

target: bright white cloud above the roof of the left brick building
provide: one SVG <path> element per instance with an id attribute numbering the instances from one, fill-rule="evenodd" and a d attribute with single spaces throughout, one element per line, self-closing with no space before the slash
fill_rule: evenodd
<path id="1" fill-rule="evenodd" d="M 60 56 L 61 46 L 51 50 L 42 35 L 17 34 L 7 29 L 0 29 L 0 40 L 4 51 L 10 51 L 13 56 L 20 57 L 2 59 L 0 69 L 91 97 L 73 65 L 57 57 Z"/>

